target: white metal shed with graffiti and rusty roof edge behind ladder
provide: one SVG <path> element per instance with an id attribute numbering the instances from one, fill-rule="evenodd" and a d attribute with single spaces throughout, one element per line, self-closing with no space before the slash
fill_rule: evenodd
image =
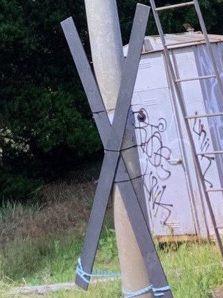
<path id="1" fill-rule="evenodd" d="M 208 37 L 222 77 L 223 36 Z M 212 74 L 203 34 L 166 34 L 165 38 L 176 76 L 187 79 Z M 124 55 L 127 50 L 128 46 L 124 46 Z M 177 123 L 175 117 L 170 84 L 160 38 L 146 36 L 132 110 L 150 227 L 159 240 L 173 235 L 183 239 L 208 238 L 214 235 L 213 226 L 199 191 L 184 121 Z M 185 81 L 181 86 L 188 115 L 223 111 L 223 100 L 215 79 Z M 197 151 L 223 149 L 223 117 L 196 118 L 190 123 Z M 183 140 L 179 137 L 179 126 L 184 131 Z M 183 147 L 186 154 L 182 154 Z M 207 188 L 223 187 L 222 156 L 203 156 L 201 166 Z M 213 192 L 210 199 L 217 225 L 223 228 L 222 193 Z"/>

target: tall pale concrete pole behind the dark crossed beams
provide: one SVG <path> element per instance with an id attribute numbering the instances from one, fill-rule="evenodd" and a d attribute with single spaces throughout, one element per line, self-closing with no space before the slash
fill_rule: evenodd
<path id="1" fill-rule="evenodd" d="M 85 8 L 94 72 L 112 121 L 124 65 L 117 5 L 115 0 L 85 0 Z M 135 292 L 148 287 L 150 282 L 117 186 L 113 188 L 113 202 L 122 287 L 126 292 Z M 147 293 L 141 297 L 154 296 Z"/>

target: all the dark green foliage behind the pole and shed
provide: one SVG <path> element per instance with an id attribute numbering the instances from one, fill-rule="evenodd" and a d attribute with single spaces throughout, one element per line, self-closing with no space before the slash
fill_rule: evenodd
<path id="1" fill-rule="evenodd" d="M 140 1 L 148 4 L 148 0 Z M 157 6 L 178 3 L 158 1 Z M 199 1 L 209 32 L 222 33 L 223 0 Z M 117 0 L 123 43 L 136 0 Z M 27 196 L 101 149 L 60 22 L 73 16 L 90 57 L 84 0 L 0 0 L 0 193 Z M 192 8 L 161 13 L 165 32 L 199 29 Z M 152 14 L 148 34 L 156 34 Z"/>

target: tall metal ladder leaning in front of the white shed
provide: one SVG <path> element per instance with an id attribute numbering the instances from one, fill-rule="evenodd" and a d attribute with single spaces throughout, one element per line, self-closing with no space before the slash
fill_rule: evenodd
<path id="1" fill-rule="evenodd" d="M 222 245 L 222 240 L 220 238 L 220 233 L 219 233 L 219 229 L 222 229 L 222 226 L 217 226 L 216 220 L 215 220 L 215 214 L 213 212 L 213 208 L 212 205 L 210 203 L 210 197 L 209 197 L 209 193 L 210 191 L 223 191 L 223 189 L 207 189 L 206 188 L 206 182 L 205 179 L 203 177 L 203 172 L 201 169 L 201 164 L 199 162 L 199 156 L 208 156 L 208 155 L 216 155 L 216 154 L 223 154 L 222 150 L 218 150 L 218 151 L 210 151 L 210 152 L 196 152 L 196 147 L 194 144 L 194 140 L 193 140 L 193 136 L 192 136 L 192 132 L 191 132 L 191 128 L 189 126 L 189 119 L 195 119 L 195 118 L 208 118 L 208 117 L 215 117 L 215 116 L 223 116 L 223 112 L 221 113 L 213 113 L 213 114 L 203 114 L 203 115 L 194 115 L 194 116 L 187 116 L 187 111 L 185 108 L 185 104 L 184 104 L 184 100 L 183 100 L 183 95 L 182 95 L 182 90 L 181 90 L 181 83 L 185 82 L 185 81 L 195 81 L 195 80 L 203 80 L 203 79 L 216 79 L 217 80 L 217 84 L 220 88 L 220 93 L 222 95 L 222 99 L 223 99 L 223 84 L 222 81 L 220 79 L 220 73 L 218 72 L 217 69 L 217 64 L 215 62 L 215 57 L 213 55 L 213 50 L 210 46 L 210 41 L 208 39 L 208 33 L 207 33 L 207 29 L 206 29 L 206 25 L 203 21 L 203 17 L 202 17 L 202 13 L 201 13 L 201 8 L 199 6 L 199 2 L 197 0 L 194 1 L 189 1 L 189 2 L 185 2 L 185 3 L 181 3 L 181 4 L 175 4 L 175 5 L 168 5 L 168 6 L 163 6 L 163 7 L 156 7 L 155 1 L 154 0 L 150 0 L 150 5 L 154 14 L 154 19 L 155 22 L 157 24 L 157 29 L 159 31 L 159 36 L 161 39 L 161 43 L 162 46 L 164 48 L 164 57 L 166 60 L 166 66 L 167 66 L 167 72 L 168 72 L 168 76 L 170 78 L 170 86 L 171 86 L 171 90 L 173 93 L 173 107 L 175 109 L 175 111 L 178 110 L 178 106 L 180 107 L 180 113 L 182 113 L 182 116 L 184 118 L 184 122 L 185 122 L 185 128 L 187 130 L 187 136 L 189 139 L 189 142 L 191 144 L 192 147 L 192 157 L 194 160 L 194 165 L 195 165 L 195 170 L 196 170 L 196 176 L 198 177 L 198 184 L 199 184 L 199 191 L 200 194 L 205 197 L 206 199 L 206 203 L 208 205 L 208 210 L 210 212 L 210 218 L 211 221 L 213 223 L 213 227 L 215 230 L 215 236 L 217 238 L 217 244 L 219 246 L 220 249 L 220 254 L 222 256 L 223 259 L 223 245 Z M 203 33 L 203 37 L 204 37 L 204 41 L 206 43 L 206 48 L 208 50 L 208 55 L 210 57 L 210 63 L 212 65 L 213 68 L 213 74 L 209 75 L 209 76 L 197 76 L 197 77 L 193 77 L 193 78 L 187 78 L 187 79 L 179 79 L 176 77 L 176 74 L 174 72 L 174 67 L 173 64 L 171 62 L 171 56 L 170 53 L 168 51 L 168 46 L 166 45 L 166 41 L 165 41 L 165 36 L 164 36 L 164 31 L 161 27 L 161 22 L 159 20 L 159 11 L 164 11 L 167 9 L 173 9 L 173 8 L 182 8 L 185 6 L 194 6 L 198 19 L 199 19 L 199 23 L 201 26 L 201 30 Z M 176 96 L 175 96 L 176 95 Z M 182 128 L 179 125 L 180 123 L 180 114 L 178 112 L 175 113 L 176 115 L 176 121 L 178 123 L 178 130 L 179 130 L 179 134 L 180 137 L 183 140 L 183 133 L 182 133 Z M 182 153 L 185 156 L 185 149 L 182 148 Z M 189 165 L 185 165 L 185 167 L 187 168 L 187 170 L 189 170 Z"/>

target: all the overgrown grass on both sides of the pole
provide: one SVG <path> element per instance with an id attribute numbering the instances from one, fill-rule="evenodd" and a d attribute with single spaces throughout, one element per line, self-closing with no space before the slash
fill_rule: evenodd
<path id="1" fill-rule="evenodd" d="M 56 196 L 56 193 L 53 193 L 53 196 Z M 60 200 L 62 201 L 62 199 Z M 85 198 L 85 200 L 87 199 Z M 61 201 L 59 208 L 62 208 Z M 52 208 L 56 208 L 56 203 L 51 202 Z M 69 206 L 71 206 L 70 203 Z M 73 205 L 74 210 L 75 206 Z M 11 233 L 10 223 L 16 223 L 13 226 L 13 229 L 16 229 L 16 236 L 14 235 L 10 241 L 6 241 L 0 253 L 0 296 L 8 291 L 8 287 L 12 286 L 43 285 L 73 280 L 75 266 L 82 248 L 86 220 L 78 217 L 78 224 L 68 229 L 68 219 L 71 222 L 73 220 L 69 218 L 71 215 L 56 212 L 55 217 L 62 215 L 67 217 L 64 229 L 59 229 L 58 232 L 57 229 L 54 231 L 45 229 L 45 226 L 42 229 L 41 221 L 45 220 L 47 224 L 55 224 L 54 218 L 48 222 L 48 217 L 43 216 L 44 208 L 40 208 L 40 205 L 30 207 L 21 204 L 6 204 L 0 208 L 0 223 L 3 226 L 8 225 L 9 233 Z M 48 206 L 46 208 L 48 210 Z M 67 208 L 62 210 L 68 212 Z M 49 210 L 47 215 L 48 212 Z M 22 230 L 17 229 L 21 222 L 33 224 L 33 229 L 40 230 L 34 236 L 30 233 L 24 234 L 24 226 L 22 226 Z M 27 229 L 27 225 L 25 227 Z M 0 241 L 1 237 L 2 234 L 0 234 Z M 208 298 L 211 289 L 223 285 L 222 261 L 213 243 L 182 243 L 173 246 L 166 245 L 164 248 L 159 248 L 157 245 L 157 250 L 175 298 Z M 99 271 L 120 270 L 115 232 L 110 220 L 107 221 L 101 234 L 94 269 Z M 48 294 L 46 297 L 122 297 L 120 289 L 120 280 L 113 280 L 94 283 L 90 285 L 88 292 L 62 290 Z"/>

